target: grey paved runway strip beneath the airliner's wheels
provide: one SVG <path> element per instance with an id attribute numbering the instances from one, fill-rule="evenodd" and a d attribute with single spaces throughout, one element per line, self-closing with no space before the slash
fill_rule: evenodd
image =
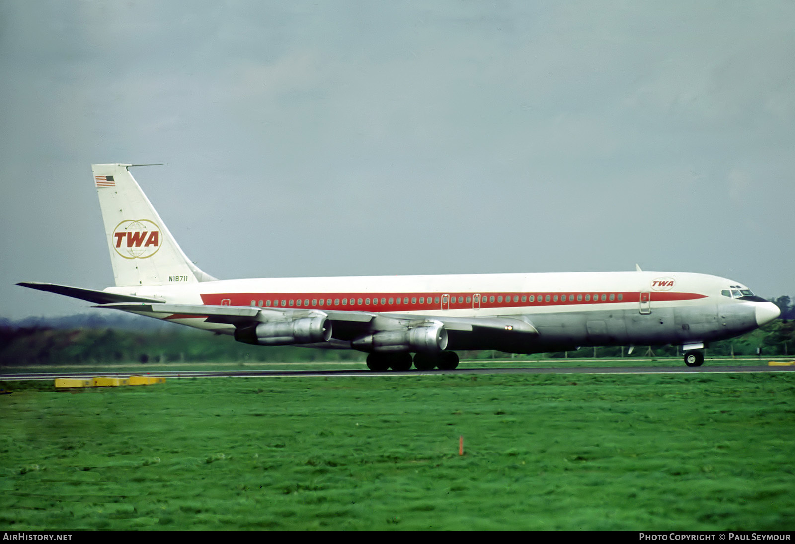
<path id="1" fill-rule="evenodd" d="M 432 376 L 432 375 L 497 375 L 497 374 L 740 374 L 793 372 L 795 367 L 511 367 L 511 368 L 460 368 L 453 371 L 405 371 L 373 372 L 367 370 L 289 371 L 289 370 L 208 370 L 208 371 L 150 371 L 150 372 L 40 372 L 29 374 L 2 374 L 0 381 L 33 381 L 56 378 L 89 379 L 98 375 L 107 377 L 129 377 L 146 375 L 166 379 L 195 378 L 346 378 L 383 376 Z"/>

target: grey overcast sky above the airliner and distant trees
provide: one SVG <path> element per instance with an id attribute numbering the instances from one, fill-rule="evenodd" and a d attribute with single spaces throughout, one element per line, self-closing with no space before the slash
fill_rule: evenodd
<path id="1" fill-rule="evenodd" d="M 0 317 L 112 285 L 91 163 L 217 278 L 795 295 L 793 2 L 0 0 Z M 99 310 L 96 310 L 99 311 Z"/>

